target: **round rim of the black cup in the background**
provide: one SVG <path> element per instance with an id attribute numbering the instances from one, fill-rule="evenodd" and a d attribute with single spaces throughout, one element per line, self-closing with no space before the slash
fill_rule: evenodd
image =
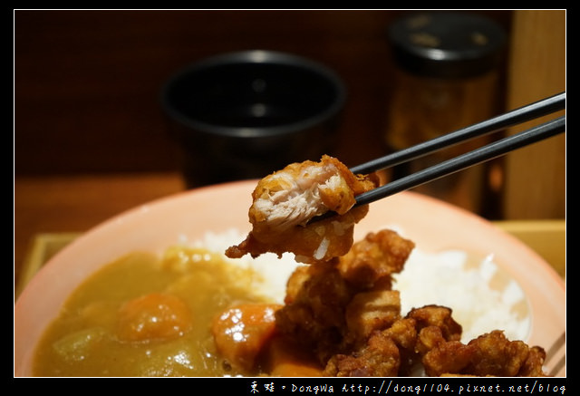
<path id="1" fill-rule="evenodd" d="M 325 80 L 330 82 L 336 91 L 336 96 L 324 111 L 320 111 L 314 116 L 285 125 L 267 127 L 227 127 L 198 121 L 183 114 L 181 111 L 177 111 L 175 107 L 170 104 L 169 91 L 176 82 L 190 72 L 207 69 L 216 65 L 227 65 L 233 63 L 278 63 L 304 68 L 323 76 Z M 343 110 L 346 102 L 346 87 L 341 77 L 323 63 L 316 62 L 294 53 L 269 50 L 247 50 L 220 53 L 218 55 L 204 58 L 196 63 L 190 63 L 189 65 L 179 69 L 179 71 L 174 72 L 169 79 L 164 82 L 160 92 L 160 102 L 162 109 L 169 116 L 169 119 L 177 121 L 179 124 L 191 130 L 197 130 L 198 132 L 204 132 L 210 135 L 241 139 L 259 138 L 263 136 L 274 137 L 291 134 L 299 130 L 307 130 L 314 127 L 314 125 L 331 120 L 333 117 L 337 116 L 340 111 Z"/>

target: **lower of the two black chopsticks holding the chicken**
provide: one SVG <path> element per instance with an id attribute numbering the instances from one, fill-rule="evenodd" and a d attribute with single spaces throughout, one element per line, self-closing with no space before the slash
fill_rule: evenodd
<path id="1" fill-rule="evenodd" d="M 356 197 L 355 207 L 369 204 L 410 188 L 418 187 L 421 184 L 440 179 L 489 159 L 497 158 L 509 151 L 520 149 L 540 140 L 545 140 L 564 131 L 565 115 L 364 192 Z"/>

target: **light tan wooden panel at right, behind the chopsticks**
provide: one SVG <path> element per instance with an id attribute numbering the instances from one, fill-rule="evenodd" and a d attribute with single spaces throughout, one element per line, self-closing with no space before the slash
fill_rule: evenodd
<path id="1" fill-rule="evenodd" d="M 508 70 L 510 108 L 565 91 L 565 32 L 565 11 L 515 13 Z M 510 132 L 537 123 L 530 121 Z M 565 134 L 510 153 L 505 164 L 506 218 L 565 218 Z"/>

